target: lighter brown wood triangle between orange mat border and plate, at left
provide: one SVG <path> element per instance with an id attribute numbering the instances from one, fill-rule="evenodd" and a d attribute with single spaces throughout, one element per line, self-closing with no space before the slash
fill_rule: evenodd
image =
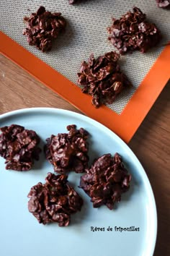
<path id="1" fill-rule="evenodd" d="M 0 114 L 19 108 L 66 108 L 81 113 L 0 54 Z"/>

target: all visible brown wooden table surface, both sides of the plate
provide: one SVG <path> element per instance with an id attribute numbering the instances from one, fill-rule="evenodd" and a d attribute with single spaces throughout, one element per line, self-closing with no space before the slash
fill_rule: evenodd
<path id="1" fill-rule="evenodd" d="M 81 113 L 12 61 L 0 55 L 0 114 L 37 106 L 64 108 Z M 169 124 L 170 87 L 166 85 L 129 143 L 146 170 L 156 198 L 158 236 L 154 256 L 170 255 Z"/>

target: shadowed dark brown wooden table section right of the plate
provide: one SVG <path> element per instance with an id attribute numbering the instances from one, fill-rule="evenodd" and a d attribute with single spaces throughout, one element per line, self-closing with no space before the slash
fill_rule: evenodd
<path id="1" fill-rule="evenodd" d="M 156 199 L 158 237 L 154 256 L 170 255 L 169 127 L 170 86 L 167 84 L 129 143 L 146 170 Z"/>

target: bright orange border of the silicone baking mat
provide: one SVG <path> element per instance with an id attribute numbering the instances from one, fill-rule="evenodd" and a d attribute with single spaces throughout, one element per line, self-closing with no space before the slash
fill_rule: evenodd
<path id="1" fill-rule="evenodd" d="M 91 105 L 91 96 L 81 93 L 81 89 L 77 85 L 1 31 L 0 52 L 73 106 L 79 108 L 84 114 L 112 129 L 127 143 L 135 134 L 170 77 L 170 45 L 168 45 L 158 56 L 122 113 L 117 114 L 107 106 L 94 108 Z"/>

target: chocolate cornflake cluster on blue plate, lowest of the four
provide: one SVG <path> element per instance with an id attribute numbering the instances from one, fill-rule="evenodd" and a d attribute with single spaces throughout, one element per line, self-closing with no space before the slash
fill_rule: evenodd
<path id="1" fill-rule="evenodd" d="M 28 210 L 44 225 L 57 222 L 58 226 L 68 226 L 71 214 L 81 210 L 83 200 L 68 184 L 67 175 L 51 174 L 45 184 L 39 182 L 30 189 Z"/>

